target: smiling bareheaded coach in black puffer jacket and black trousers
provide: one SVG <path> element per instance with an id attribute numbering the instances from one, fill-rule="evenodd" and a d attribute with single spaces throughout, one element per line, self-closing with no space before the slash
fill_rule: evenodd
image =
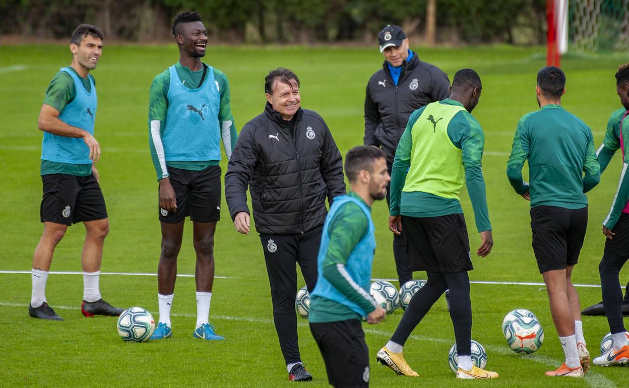
<path id="1" fill-rule="evenodd" d="M 273 319 L 289 379 L 308 381 L 299 355 L 299 264 L 315 287 L 325 199 L 345 194 L 341 154 L 323 118 L 302 109 L 299 78 L 289 69 L 265 78 L 264 112 L 243 126 L 225 175 L 225 197 L 236 230 L 249 233 L 247 186 L 269 274 Z"/>

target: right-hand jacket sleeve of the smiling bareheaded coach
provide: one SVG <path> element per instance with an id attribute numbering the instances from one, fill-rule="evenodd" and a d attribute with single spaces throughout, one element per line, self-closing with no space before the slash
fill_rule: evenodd
<path id="1" fill-rule="evenodd" d="M 337 143 L 325 121 L 323 123 L 325 137 L 323 138 L 323 146 L 321 150 L 321 161 L 319 168 L 321 177 L 325 180 L 328 187 L 328 203 L 331 205 L 334 197 L 345 194 L 345 177 L 343 176 L 343 158 L 338 150 Z"/>

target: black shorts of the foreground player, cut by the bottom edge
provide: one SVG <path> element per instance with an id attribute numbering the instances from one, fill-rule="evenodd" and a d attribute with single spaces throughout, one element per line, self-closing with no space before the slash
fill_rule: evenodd
<path id="1" fill-rule="evenodd" d="M 358 319 L 311 323 L 328 382 L 334 387 L 369 387 L 369 348 Z"/>

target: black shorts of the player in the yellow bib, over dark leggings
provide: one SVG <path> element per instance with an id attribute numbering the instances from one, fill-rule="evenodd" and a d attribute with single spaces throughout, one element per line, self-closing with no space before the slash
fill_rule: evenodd
<path id="1" fill-rule="evenodd" d="M 474 269 L 463 214 L 438 217 L 402 216 L 408 269 L 462 272 Z"/>

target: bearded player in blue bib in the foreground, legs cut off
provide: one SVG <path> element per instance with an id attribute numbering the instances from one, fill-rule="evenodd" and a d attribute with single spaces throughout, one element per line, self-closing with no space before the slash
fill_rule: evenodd
<path id="1" fill-rule="evenodd" d="M 354 147 L 345 157 L 345 175 L 351 191 L 335 197 L 323 224 L 308 321 L 328 382 L 368 387 L 369 349 L 361 320 L 375 324 L 386 314 L 369 294 L 376 250 L 371 206 L 386 197 L 391 180 L 386 155 L 376 147 Z"/>

